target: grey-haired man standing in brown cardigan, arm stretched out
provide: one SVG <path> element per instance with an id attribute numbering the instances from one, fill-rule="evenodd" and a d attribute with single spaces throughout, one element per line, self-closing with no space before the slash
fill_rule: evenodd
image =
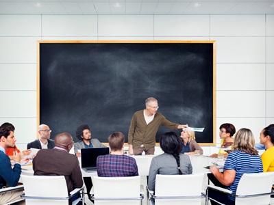
<path id="1" fill-rule="evenodd" d="M 173 130 L 187 127 L 185 124 L 170 122 L 158 113 L 158 100 L 155 98 L 147 98 L 145 106 L 146 109 L 136 111 L 132 117 L 128 135 L 129 154 L 140 155 L 143 151 L 145 154 L 154 154 L 155 135 L 160 126 Z"/>

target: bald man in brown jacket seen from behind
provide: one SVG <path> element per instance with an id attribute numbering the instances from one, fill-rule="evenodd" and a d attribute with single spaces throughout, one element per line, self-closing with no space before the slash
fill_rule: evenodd
<path id="1" fill-rule="evenodd" d="M 73 137 L 69 133 L 60 133 L 56 135 L 54 143 L 53 149 L 42 149 L 37 152 L 33 160 L 34 175 L 64 176 L 68 193 L 75 188 L 83 187 L 77 156 L 69 154 L 74 144 Z"/>

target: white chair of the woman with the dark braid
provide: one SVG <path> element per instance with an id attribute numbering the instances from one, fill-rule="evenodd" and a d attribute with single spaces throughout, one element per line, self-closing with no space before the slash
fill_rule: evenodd
<path id="1" fill-rule="evenodd" d="M 188 204 L 201 205 L 201 200 L 206 197 L 202 193 L 204 174 L 186 175 L 156 175 L 155 193 L 147 189 L 147 204 L 149 194 L 155 204 Z"/>

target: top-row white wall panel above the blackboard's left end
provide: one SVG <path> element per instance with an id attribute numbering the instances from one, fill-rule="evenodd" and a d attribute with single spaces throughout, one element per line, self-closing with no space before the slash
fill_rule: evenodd
<path id="1" fill-rule="evenodd" d="M 42 36 L 97 36 L 97 16 L 43 15 Z"/>

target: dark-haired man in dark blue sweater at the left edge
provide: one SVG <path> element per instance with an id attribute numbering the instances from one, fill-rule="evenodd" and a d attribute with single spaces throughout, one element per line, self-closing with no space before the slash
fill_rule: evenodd
<path id="1" fill-rule="evenodd" d="M 8 148 L 14 148 L 16 138 L 14 137 L 14 129 L 12 126 L 3 125 L 0 126 L 0 189 L 5 189 L 5 187 L 15 187 L 18 183 L 21 174 L 21 154 L 18 152 L 13 153 L 14 167 L 10 163 L 10 158 L 5 154 L 5 150 Z M 14 200 L 21 199 L 23 194 L 22 190 L 10 191 L 0 194 L 0 204 L 6 204 Z M 20 204 L 25 204 L 25 202 L 20 202 Z"/>

